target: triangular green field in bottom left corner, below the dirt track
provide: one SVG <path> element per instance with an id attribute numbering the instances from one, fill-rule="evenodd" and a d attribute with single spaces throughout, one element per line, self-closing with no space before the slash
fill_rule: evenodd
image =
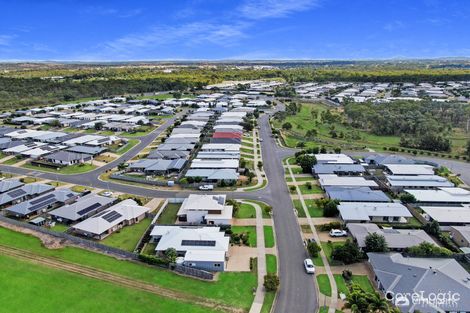
<path id="1" fill-rule="evenodd" d="M 4 255 L 0 267 L 4 312 L 216 312 Z"/>

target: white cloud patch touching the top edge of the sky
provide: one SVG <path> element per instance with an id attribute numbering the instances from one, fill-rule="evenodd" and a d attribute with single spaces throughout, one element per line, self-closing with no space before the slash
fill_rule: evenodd
<path id="1" fill-rule="evenodd" d="M 318 3 L 318 0 L 246 0 L 239 11 L 243 17 L 256 20 L 306 11 Z"/>

